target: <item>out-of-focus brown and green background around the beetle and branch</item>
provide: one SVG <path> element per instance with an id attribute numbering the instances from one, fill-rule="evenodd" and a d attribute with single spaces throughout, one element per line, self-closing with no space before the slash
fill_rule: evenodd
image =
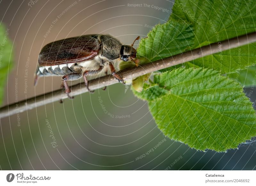
<path id="1" fill-rule="evenodd" d="M 19 101 L 60 88 L 61 77 L 40 78 L 33 85 L 37 57 L 45 44 L 90 33 L 109 33 L 131 44 L 168 20 L 172 4 L 167 0 L 1 1 L 1 25 L 9 29 L 14 56 L 3 105 L 15 102 L 15 79 Z M 253 102 L 255 96 L 253 92 Z M 252 170 L 256 166 L 254 142 L 216 153 L 198 152 L 165 138 L 147 103 L 121 84 L 28 110 L 19 118 L 20 126 L 17 115 L 0 119 L 2 170 Z"/>

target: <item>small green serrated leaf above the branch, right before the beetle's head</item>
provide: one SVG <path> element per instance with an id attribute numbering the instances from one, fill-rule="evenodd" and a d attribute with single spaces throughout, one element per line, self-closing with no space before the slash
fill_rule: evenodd
<path id="1" fill-rule="evenodd" d="M 146 38 L 140 40 L 137 54 L 149 62 L 173 56 L 190 50 L 193 36 L 190 23 L 170 20 L 163 25 L 156 25 Z"/>

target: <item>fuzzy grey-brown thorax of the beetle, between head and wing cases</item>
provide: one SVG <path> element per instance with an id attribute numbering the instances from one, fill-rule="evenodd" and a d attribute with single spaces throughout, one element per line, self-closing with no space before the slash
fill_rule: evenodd
<path id="1" fill-rule="evenodd" d="M 109 61 L 120 57 L 122 43 L 118 39 L 110 35 L 101 35 L 100 40 L 102 42 L 102 56 L 106 57 Z"/>

